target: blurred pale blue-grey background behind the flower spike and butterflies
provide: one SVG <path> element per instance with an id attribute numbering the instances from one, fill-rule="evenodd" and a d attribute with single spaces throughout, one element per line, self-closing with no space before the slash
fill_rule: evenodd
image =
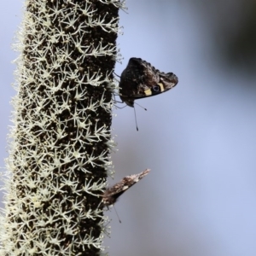
<path id="1" fill-rule="evenodd" d="M 0 16 L 0 166 L 7 157 L 9 105 L 15 91 L 12 38 L 21 1 L 2 4 Z M 113 165 L 118 182 L 151 172 L 112 210 L 110 255 L 256 255 L 256 1 L 127 0 L 120 11 L 123 55 L 162 72 L 177 86 L 116 109 Z M 119 105 L 121 106 L 121 105 Z"/>

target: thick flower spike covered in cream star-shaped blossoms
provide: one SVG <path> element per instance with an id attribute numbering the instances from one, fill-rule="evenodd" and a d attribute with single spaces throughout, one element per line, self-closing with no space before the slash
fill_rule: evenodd
<path id="1" fill-rule="evenodd" d="M 117 0 L 26 0 L 0 255 L 99 255 Z"/>

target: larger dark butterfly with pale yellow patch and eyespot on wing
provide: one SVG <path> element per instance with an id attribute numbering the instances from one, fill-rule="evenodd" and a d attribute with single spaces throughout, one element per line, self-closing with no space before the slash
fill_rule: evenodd
<path id="1" fill-rule="evenodd" d="M 174 73 L 160 72 L 147 61 L 131 58 L 120 77 L 119 96 L 133 108 L 135 100 L 166 92 L 177 82 Z"/>

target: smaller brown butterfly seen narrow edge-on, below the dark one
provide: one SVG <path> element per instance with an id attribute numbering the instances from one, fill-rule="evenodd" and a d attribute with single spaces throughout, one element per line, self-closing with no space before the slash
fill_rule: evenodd
<path id="1" fill-rule="evenodd" d="M 108 207 L 113 205 L 119 198 L 120 195 L 125 193 L 127 189 L 130 189 L 135 183 L 140 181 L 143 177 L 148 175 L 149 169 L 138 174 L 133 174 L 124 177 L 119 183 L 114 184 L 112 187 L 105 190 L 102 198 L 103 204 Z"/>

